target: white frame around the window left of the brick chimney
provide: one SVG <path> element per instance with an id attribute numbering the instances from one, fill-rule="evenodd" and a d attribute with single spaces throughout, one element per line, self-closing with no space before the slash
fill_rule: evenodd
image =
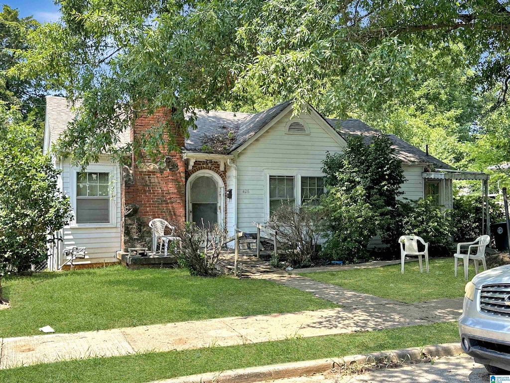
<path id="1" fill-rule="evenodd" d="M 109 173 L 110 175 L 110 222 L 108 223 L 77 223 L 77 176 L 78 173 Z M 73 219 L 69 227 L 116 227 L 117 226 L 117 169 L 115 166 L 108 165 L 90 165 L 85 170 L 80 167 L 72 166 L 69 179 L 69 192 L 71 197 L 71 207 Z"/>

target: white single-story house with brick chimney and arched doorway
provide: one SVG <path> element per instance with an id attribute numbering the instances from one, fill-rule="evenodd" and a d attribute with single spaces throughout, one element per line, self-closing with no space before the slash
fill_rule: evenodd
<path id="1" fill-rule="evenodd" d="M 182 150 L 169 153 L 163 168 L 143 159 L 143 165 L 133 161 L 121 169 L 105 155 L 82 172 L 54 156 L 55 166 L 62 169 L 59 187 L 71 199 L 74 218 L 58 233 L 62 241 L 52 250 L 50 269 L 58 269 L 66 261 L 64 250 L 72 247 L 86 248 L 85 258 L 73 262 L 84 267 L 118 262 L 116 253 L 130 247 L 150 248 L 147 223 L 154 218 L 218 223 L 230 234 L 236 228 L 253 232 L 252 223 L 266 222 L 283 200 L 299 205 L 324 193 L 321 168 L 327 152 L 342 152 L 349 136 L 361 135 L 368 142 L 378 133 L 359 119 L 326 118 L 311 105 L 298 116 L 292 108 L 293 101 L 287 101 L 256 114 L 198 111 L 196 129 L 189 138 L 177 137 Z M 138 118 L 119 137 L 121 144 L 162 116 Z M 74 117 L 66 99 L 47 98 L 46 153 Z M 452 179 L 487 177 L 454 171 L 388 136 L 403 161 L 402 198 L 436 196 L 439 204 L 451 208 Z M 217 141 L 224 150 L 209 153 Z"/>

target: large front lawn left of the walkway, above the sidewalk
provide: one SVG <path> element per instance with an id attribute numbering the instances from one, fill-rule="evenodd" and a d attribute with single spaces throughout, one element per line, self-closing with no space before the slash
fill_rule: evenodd
<path id="1" fill-rule="evenodd" d="M 182 269 L 115 266 L 8 277 L 0 337 L 338 307 L 310 293 L 259 279 L 192 277 Z M 0 381 L 2 381 L 0 379 Z"/>

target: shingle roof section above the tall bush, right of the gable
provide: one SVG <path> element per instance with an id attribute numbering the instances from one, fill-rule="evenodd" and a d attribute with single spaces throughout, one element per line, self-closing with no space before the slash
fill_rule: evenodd
<path id="1" fill-rule="evenodd" d="M 344 139 L 348 136 L 362 136 L 363 141 L 368 145 L 372 137 L 376 134 L 381 134 L 377 129 L 374 129 L 365 124 L 360 119 L 338 119 L 326 118 L 326 121 L 333 127 Z M 395 149 L 395 157 L 403 162 L 409 163 L 431 163 L 439 169 L 452 169 L 447 163 L 427 155 L 424 151 L 411 145 L 409 142 L 404 141 L 394 134 L 386 135 L 392 142 Z"/>

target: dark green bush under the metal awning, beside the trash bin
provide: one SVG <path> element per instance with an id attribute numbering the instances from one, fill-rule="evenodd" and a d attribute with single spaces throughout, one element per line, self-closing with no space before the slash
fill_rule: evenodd
<path id="1" fill-rule="evenodd" d="M 474 194 L 457 196 L 453 199 L 452 226 L 453 241 L 473 241 L 481 232 L 482 197 Z M 495 200 L 489 200 L 491 223 L 505 220 L 504 210 Z"/>

